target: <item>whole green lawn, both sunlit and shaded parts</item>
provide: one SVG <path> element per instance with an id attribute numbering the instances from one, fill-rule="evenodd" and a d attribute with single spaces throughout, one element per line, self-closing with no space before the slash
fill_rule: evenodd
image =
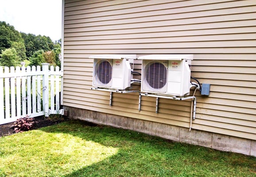
<path id="1" fill-rule="evenodd" d="M 69 121 L 0 138 L 0 177 L 256 177 L 256 158 Z"/>

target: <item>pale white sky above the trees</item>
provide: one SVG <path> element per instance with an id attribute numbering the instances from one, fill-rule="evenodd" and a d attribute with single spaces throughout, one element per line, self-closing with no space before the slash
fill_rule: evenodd
<path id="1" fill-rule="evenodd" d="M 61 38 L 62 0 L 0 0 L 0 21 L 26 34 Z"/>

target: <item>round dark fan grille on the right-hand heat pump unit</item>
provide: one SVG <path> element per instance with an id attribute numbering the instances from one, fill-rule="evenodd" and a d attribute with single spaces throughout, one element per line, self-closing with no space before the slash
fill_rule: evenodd
<path id="1" fill-rule="evenodd" d="M 160 62 L 148 63 L 145 67 L 145 78 L 153 89 L 162 89 L 167 82 L 167 68 Z"/>

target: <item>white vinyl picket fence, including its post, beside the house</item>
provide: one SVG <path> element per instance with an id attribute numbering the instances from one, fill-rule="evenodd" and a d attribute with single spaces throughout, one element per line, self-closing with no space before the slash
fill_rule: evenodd
<path id="1" fill-rule="evenodd" d="M 0 67 L 0 124 L 20 117 L 63 114 L 60 110 L 62 71 L 57 66 Z"/>

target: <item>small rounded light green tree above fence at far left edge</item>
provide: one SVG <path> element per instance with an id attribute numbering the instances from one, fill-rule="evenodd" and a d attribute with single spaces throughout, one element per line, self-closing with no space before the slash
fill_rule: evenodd
<path id="1" fill-rule="evenodd" d="M 17 60 L 18 56 L 15 48 L 9 48 L 2 51 L 0 57 L 0 62 L 3 66 L 11 67 L 19 65 L 19 61 Z"/>

